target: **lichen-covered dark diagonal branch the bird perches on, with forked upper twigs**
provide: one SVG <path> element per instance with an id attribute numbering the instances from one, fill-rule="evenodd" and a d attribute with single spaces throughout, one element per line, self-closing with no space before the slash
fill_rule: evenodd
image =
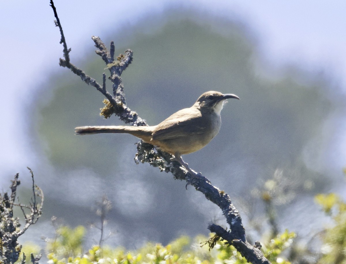
<path id="1" fill-rule="evenodd" d="M 62 27 L 60 21 L 57 17 L 57 13 L 51 1 L 51 6 L 54 10 L 54 15 L 56 17 L 56 24 L 62 33 Z M 120 54 L 117 57 L 117 62 L 114 62 L 114 43 L 111 42 L 110 52 L 107 50 L 106 45 L 100 40 L 99 37 L 92 36 L 95 46 L 98 48 L 96 53 L 102 57 L 102 60 L 106 63 L 107 69 L 110 71 L 109 79 L 112 81 L 113 95 L 111 95 L 106 90 L 105 79 L 103 75 L 103 85 L 102 87 L 91 77 L 86 75 L 82 70 L 78 69 L 76 66 L 70 63 L 69 52 L 65 52 L 65 47 L 67 48 L 65 38 L 63 37 L 61 41 L 64 45 L 64 57 L 65 60 L 60 59 L 60 66 L 69 68 L 73 73 L 80 76 L 80 78 L 88 85 L 94 86 L 98 91 L 100 91 L 110 102 L 114 108 L 113 113 L 117 115 L 125 123 L 130 123 L 134 126 L 146 126 L 145 120 L 140 118 L 136 112 L 131 111 L 126 106 L 124 87 L 122 80 L 120 78 L 121 73 L 128 67 L 133 59 L 133 52 L 128 49 L 125 51 L 125 55 Z M 68 51 L 68 50 L 67 50 Z M 238 210 L 232 204 L 230 197 L 223 191 L 210 184 L 210 181 L 205 178 L 203 180 L 193 178 L 189 172 L 184 170 L 181 165 L 175 161 L 171 161 L 172 155 L 168 153 L 161 152 L 155 149 L 153 145 L 139 142 L 137 144 L 137 153 L 135 157 L 136 163 L 148 162 L 155 167 L 159 167 L 161 171 L 171 172 L 175 179 L 186 180 L 191 182 L 191 184 L 196 188 L 196 190 L 202 192 L 206 198 L 213 203 L 217 204 L 222 213 L 226 217 L 227 223 L 230 225 L 230 231 L 211 225 L 209 229 L 212 232 L 217 233 L 220 237 L 227 240 L 229 244 L 234 245 L 237 250 L 246 258 L 247 261 L 252 263 L 270 263 L 263 256 L 261 251 L 256 247 L 251 246 L 245 237 L 245 229 L 242 224 L 242 218 Z M 102 237 L 101 237 L 102 238 Z"/>

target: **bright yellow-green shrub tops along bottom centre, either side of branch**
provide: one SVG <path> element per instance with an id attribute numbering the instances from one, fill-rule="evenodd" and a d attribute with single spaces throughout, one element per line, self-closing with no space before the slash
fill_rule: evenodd
<path id="1" fill-rule="evenodd" d="M 86 253 L 82 253 L 84 228 L 75 229 L 63 226 L 57 229 L 55 239 L 48 241 L 48 263 L 247 263 L 233 246 L 218 241 L 213 249 L 204 244 L 207 237 L 197 236 L 191 241 L 188 236 L 181 236 L 163 246 L 161 244 L 147 243 L 142 248 L 127 251 L 124 248 L 110 248 L 108 246 L 92 246 Z M 289 264 L 280 257 L 282 252 L 292 244 L 294 233 L 287 230 L 272 239 L 264 249 L 265 256 L 273 263 Z"/>

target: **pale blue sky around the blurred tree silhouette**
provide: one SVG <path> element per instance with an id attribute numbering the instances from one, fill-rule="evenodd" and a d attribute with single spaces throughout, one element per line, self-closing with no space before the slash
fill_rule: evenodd
<path id="1" fill-rule="evenodd" d="M 160 13 L 172 5 L 211 12 L 245 25 L 255 36 L 262 74 L 275 77 L 285 65 L 299 65 L 308 72 L 325 72 L 335 82 L 334 94 L 346 94 L 344 1 L 56 0 L 55 5 L 74 61 L 93 50 L 91 35 L 106 38 L 108 31 L 135 25 L 141 17 Z M 107 7 L 106 12 L 103 7 Z M 118 11 L 109 12 L 110 8 Z M 66 70 L 58 66 L 62 46 L 48 0 L 1 1 L 0 14 L 3 177 L 25 172 L 27 165 L 35 166 L 35 151 L 27 137 L 26 107 L 52 72 Z M 337 130 L 346 131 L 345 118 L 340 117 L 339 114 Z M 346 136 L 336 135 L 336 158 L 341 165 L 342 160 L 346 163 Z"/>

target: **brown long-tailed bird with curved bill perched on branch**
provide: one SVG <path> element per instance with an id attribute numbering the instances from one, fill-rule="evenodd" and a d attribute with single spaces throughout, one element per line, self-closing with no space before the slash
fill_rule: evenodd
<path id="1" fill-rule="evenodd" d="M 181 155 L 198 151 L 217 135 L 221 127 L 220 112 L 228 98 L 239 99 L 235 94 L 205 92 L 192 107 L 177 111 L 156 126 L 85 126 L 76 127 L 75 131 L 77 135 L 98 133 L 134 135 L 174 155 L 175 160 L 195 176 L 196 173 L 182 160 Z"/>

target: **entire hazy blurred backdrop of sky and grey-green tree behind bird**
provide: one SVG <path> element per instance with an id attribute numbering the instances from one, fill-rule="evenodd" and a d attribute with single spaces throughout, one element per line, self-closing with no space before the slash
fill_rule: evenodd
<path id="1" fill-rule="evenodd" d="M 221 113 L 219 135 L 184 160 L 230 195 L 248 233 L 264 211 L 252 190 L 279 175 L 286 194 L 280 228 L 305 240 L 316 234 L 324 219 L 313 195 L 345 197 L 346 4 L 101 3 L 55 2 L 72 63 L 101 82 L 108 72 L 91 35 L 107 46 L 114 40 L 116 54 L 132 49 L 121 76 L 127 104 L 149 125 L 205 91 L 237 94 L 241 100 L 229 100 Z M 74 135 L 76 126 L 122 123 L 102 119 L 101 94 L 58 66 L 62 46 L 49 1 L 1 2 L 0 12 L 1 189 L 20 172 L 21 195 L 29 193 L 30 166 L 46 198 L 42 219 L 23 240 L 51 236 L 53 215 L 71 226 L 95 221 L 102 194 L 113 203 L 113 246 L 166 244 L 180 234 L 208 234 L 208 222 L 222 224 L 220 210 L 199 192 L 136 165 L 136 138 Z"/>

